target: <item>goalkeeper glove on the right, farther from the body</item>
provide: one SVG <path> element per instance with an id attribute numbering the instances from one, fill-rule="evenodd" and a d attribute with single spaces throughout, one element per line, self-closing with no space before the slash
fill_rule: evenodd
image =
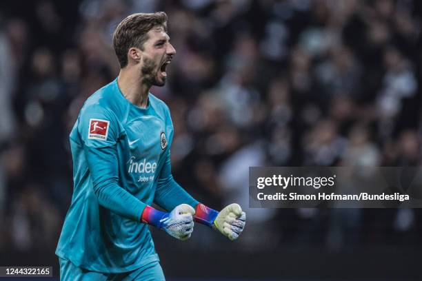
<path id="1" fill-rule="evenodd" d="M 194 220 L 223 233 L 230 240 L 235 240 L 245 227 L 246 214 L 236 203 L 228 205 L 219 212 L 199 203 Z"/>

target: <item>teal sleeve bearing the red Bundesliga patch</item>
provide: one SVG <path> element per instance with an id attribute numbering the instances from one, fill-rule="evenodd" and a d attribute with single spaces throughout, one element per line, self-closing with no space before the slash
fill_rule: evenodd
<path id="1" fill-rule="evenodd" d="M 78 132 L 99 205 L 141 221 L 145 203 L 119 186 L 117 140 L 120 127 L 117 117 L 99 103 L 83 107 Z"/>

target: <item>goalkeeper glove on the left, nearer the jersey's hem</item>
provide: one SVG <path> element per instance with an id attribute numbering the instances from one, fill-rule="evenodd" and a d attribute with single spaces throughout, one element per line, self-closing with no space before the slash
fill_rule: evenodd
<path id="1" fill-rule="evenodd" d="M 192 234 L 195 210 L 187 204 L 175 207 L 170 213 L 159 211 L 150 206 L 145 207 L 142 221 L 154 225 L 179 240 L 188 240 Z"/>

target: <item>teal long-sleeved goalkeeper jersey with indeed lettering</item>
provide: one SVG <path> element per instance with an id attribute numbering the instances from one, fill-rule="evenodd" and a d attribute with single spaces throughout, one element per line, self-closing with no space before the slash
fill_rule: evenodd
<path id="1" fill-rule="evenodd" d="M 104 273 L 158 260 L 145 206 L 198 204 L 172 178 L 172 138 L 169 109 L 152 94 L 137 107 L 115 79 L 88 98 L 70 133 L 74 190 L 57 256 Z"/>

